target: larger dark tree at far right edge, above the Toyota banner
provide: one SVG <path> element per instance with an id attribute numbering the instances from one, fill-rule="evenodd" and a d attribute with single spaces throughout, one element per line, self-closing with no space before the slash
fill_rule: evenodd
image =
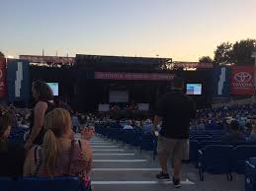
<path id="1" fill-rule="evenodd" d="M 256 39 L 242 39 L 236 41 L 232 48 L 232 60 L 237 65 L 253 65 L 254 58 L 251 57 L 255 51 Z"/>

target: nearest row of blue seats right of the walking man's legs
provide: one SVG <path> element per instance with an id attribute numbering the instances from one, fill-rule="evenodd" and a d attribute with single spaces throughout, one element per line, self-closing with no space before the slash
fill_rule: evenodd
<path id="1" fill-rule="evenodd" d="M 229 181 L 232 180 L 231 172 L 245 173 L 245 161 L 256 157 L 256 146 L 241 145 L 210 145 L 199 150 L 199 174 L 204 180 L 204 172 L 213 174 L 225 173 Z"/>

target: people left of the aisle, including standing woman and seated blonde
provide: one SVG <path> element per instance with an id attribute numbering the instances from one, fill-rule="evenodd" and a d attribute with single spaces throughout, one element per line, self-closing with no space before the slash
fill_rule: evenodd
<path id="1" fill-rule="evenodd" d="M 81 126 L 81 139 L 75 137 L 70 112 L 56 107 L 50 88 L 33 83 L 35 108 L 0 108 L 0 176 L 78 176 L 90 181 L 92 150 L 89 140 L 94 130 Z M 27 128 L 25 145 L 8 138 L 12 127 Z"/>

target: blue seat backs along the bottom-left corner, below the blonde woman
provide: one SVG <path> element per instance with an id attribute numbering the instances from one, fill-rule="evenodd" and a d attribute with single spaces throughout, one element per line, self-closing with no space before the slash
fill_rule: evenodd
<path id="1" fill-rule="evenodd" d="M 78 177 L 0 178 L 2 191 L 89 191 Z"/>

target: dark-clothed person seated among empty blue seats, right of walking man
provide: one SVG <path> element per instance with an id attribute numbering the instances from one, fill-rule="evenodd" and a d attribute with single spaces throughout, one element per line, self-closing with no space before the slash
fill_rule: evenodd
<path id="1" fill-rule="evenodd" d="M 222 142 L 234 143 L 246 141 L 244 134 L 240 131 L 237 120 L 230 123 L 230 133 L 223 137 Z"/>

